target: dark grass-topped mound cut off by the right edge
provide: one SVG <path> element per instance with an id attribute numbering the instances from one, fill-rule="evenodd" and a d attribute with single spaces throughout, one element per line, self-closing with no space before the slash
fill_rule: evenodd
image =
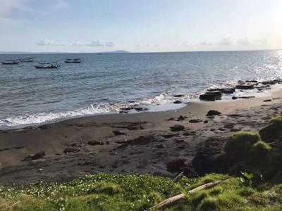
<path id="1" fill-rule="evenodd" d="M 259 135 L 265 142 L 282 140 L 282 116 L 272 119 L 269 125 L 259 131 Z"/>

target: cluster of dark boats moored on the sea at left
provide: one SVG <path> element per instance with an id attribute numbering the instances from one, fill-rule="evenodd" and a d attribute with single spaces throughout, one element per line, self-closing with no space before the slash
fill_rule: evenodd
<path id="1" fill-rule="evenodd" d="M 2 65 L 18 65 L 19 63 L 32 63 L 35 61 L 34 58 L 35 57 L 4 60 L 1 63 Z M 39 63 L 38 65 L 35 65 L 35 68 L 37 69 L 59 68 L 61 67 L 61 65 L 59 64 L 59 61 L 61 60 L 57 60 L 57 61 L 49 62 L 49 63 Z M 66 58 L 65 63 L 81 63 L 81 58 Z"/>

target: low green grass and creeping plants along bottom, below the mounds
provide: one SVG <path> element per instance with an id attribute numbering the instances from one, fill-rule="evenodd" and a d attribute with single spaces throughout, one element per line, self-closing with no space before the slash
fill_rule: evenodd
<path id="1" fill-rule="evenodd" d="M 4 188 L 1 210 L 148 210 L 168 197 L 217 179 L 219 186 L 187 196 L 168 210 L 281 210 L 282 184 L 253 186 L 240 177 L 208 174 L 177 182 L 164 177 L 95 174 L 67 184 L 34 184 Z"/>

